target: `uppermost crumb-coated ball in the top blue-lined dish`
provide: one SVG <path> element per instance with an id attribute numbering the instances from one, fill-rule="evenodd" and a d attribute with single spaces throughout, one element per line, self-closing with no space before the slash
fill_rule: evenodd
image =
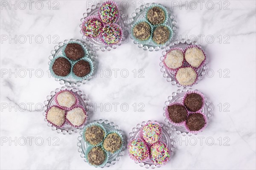
<path id="1" fill-rule="evenodd" d="M 165 20 L 165 14 L 163 9 L 155 6 L 151 9 L 148 10 L 148 21 L 152 24 L 152 25 L 157 25 L 157 24 L 161 24 L 164 22 Z"/>

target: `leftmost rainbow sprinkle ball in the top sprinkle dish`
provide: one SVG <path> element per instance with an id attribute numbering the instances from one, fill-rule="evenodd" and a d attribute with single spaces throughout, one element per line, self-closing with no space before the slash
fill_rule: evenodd
<path id="1" fill-rule="evenodd" d="M 85 21 L 84 35 L 88 37 L 97 37 L 102 31 L 103 23 L 96 18 Z"/>

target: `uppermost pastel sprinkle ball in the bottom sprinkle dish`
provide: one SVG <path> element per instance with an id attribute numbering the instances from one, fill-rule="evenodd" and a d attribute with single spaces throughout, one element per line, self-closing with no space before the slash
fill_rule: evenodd
<path id="1" fill-rule="evenodd" d="M 149 144 L 153 144 L 160 139 L 161 127 L 156 123 L 149 123 L 142 129 L 143 139 Z"/>

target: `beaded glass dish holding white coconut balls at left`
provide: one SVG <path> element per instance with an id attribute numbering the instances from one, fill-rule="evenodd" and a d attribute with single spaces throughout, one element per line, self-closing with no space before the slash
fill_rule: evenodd
<path id="1" fill-rule="evenodd" d="M 47 110 L 52 107 L 53 105 L 56 105 L 57 103 L 54 100 L 54 96 L 55 94 L 57 94 L 59 91 L 63 91 L 63 90 L 69 90 L 72 91 L 74 95 L 76 95 L 77 99 L 79 100 L 79 105 L 81 105 L 84 110 L 87 113 L 87 118 L 86 121 L 84 122 L 84 124 L 81 127 L 73 127 L 71 126 L 69 123 L 65 122 L 64 125 L 62 127 L 55 127 L 52 125 L 52 123 L 47 122 L 46 119 L 46 112 Z M 44 121 L 47 122 L 47 125 L 49 127 L 52 128 L 52 130 L 56 130 L 57 133 L 62 133 L 62 134 L 72 134 L 72 133 L 77 133 L 79 131 L 79 129 L 81 130 L 84 125 L 87 124 L 87 122 L 90 120 L 90 111 L 89 109 L 91 108 L 91 105 L 89 104 L 89 99 L 87 98 L 87 96 L 85 94 L 82 93 L 82 91 L 78 90 L 77 88 L 71 88 L 71 87 L 61 87 L 61 88 L 56 88 L 55 91 L 51 91 L 50 95 L 47 96 L 47 100 L 44 101 Z"/>

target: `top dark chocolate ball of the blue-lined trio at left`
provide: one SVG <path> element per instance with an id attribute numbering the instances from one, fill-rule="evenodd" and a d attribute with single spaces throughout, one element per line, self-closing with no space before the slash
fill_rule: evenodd
<path id="1" fill-rule="evenodd" d="M 69 59 L 78 60 L 84 57 L 84 49 L 77 43 L 67 44 L 64 52 Z"/>

